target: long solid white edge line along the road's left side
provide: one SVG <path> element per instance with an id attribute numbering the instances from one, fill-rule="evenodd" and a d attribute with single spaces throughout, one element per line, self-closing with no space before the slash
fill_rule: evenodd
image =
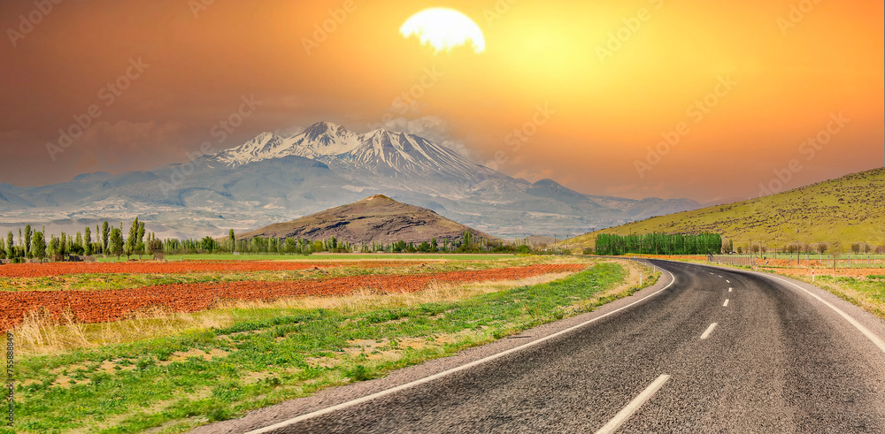
<path id="1" fill-rule="evenodd" d="M 662 269 L 662 270 L 663 270 L 663 269 Z M 566 330 L 557 331 L 556 333 L 553 333 L 553 334 L 551 334 L 551 335 L 549 335 L 549 336 L 545 336 L 545 337 L 543 337 L 543 338 L 541 338 L 541 339 L 537 339 L 537 340 L 533 340 L 533 341 L 531 341 L 531 342 L 527 342 L 527 343 L 522 344 L 522 345 L 520 345 L 520 346 L 513 347 L 513 348 L 511 348 L 511 349 L 509 349 L 509 350 L 502 351 L 501 353 L 492 354 L 492 355 L 489 355 L 489 356 L 486 357 L 486 358 L 483 358 L 483 359 L 480 359 L 480 360 L 477 360 L 477 361 L 473 361 L 473 362 L 470 362 L 470 363 L 467 363 L 467 364 L 464 364 L 464 365 L 458 366 L 458 367 L 456 367 L 456 368 L 452 368 L 452 369 L 449 369 L 449 370 L 444 370 L 443 372 L 440 372 L 440 373 L 434 374 L 434 375 L 432 375 L 432 376 L 430 376 L 430 377 L 420 378 L 420 379 L 418 379 L 418 380 L 412 381 L 412 383 L 406 383 L 406 384 L 404 384 L 404 385 L 397 385 L 396 387 L 391 387 L 391 388 L 389 388 L 389 389 L 387 389 L 387 390 L 383 390 L 383 391 L 381 391 L 381 392 L 375 392 L 375 393 L 373 393 L 373 394 L 371 394 L 371 395 L 366 395 L 366 396 L 364 396 L 364 397 L 362 397 L 362 398 L 358 398 L 358 399 L 356 399 L 356 400 L 349 400 L 349 401 L 347 401 L 347 402 L 342 402 L 341 404 L 338 404 L 338 405 L 335 405 L 335 406 L 332 406 L 332 407 L 322 408 L 322 409 L 320 409 L 320 410 L 317 410 L 317 411 L 314 411 L 314 412 L 311 412 L 311 413 L 307 413 L 307 414 L 304 414 L 304 415 L 300 415 L 300 416 L 293 417 L 293 418 L 291 418 L 291 419 L 289 419 L 289 420 L 282 421 L 282 422 L 280 422 L 280 423 L 274 423 L 273 425 L 266 426 L 265 428 L 259 428 L 258 430 L 251 430 L 251 431 L 247 432 L 246 434 L 265 434 L 265 433 L 267 433 L 267 432 L 273 432 L 274 430 L 279 430 L 279 429 L 281 429 L 281 428 L 285 428 L 285 427 L 287 427 L 287 426 L 289 426 L 289 425 L 293 425 L 293 424 L 295 424 L 295 423 L 299 423 L 299 422 L 306 421 L 306 420 L 308 420 L 308 419 L 312 419 L 313 417 L 317 417 L 317 416 L 320 416 L 320 415 L 327 415 L 327 414 L 329 414 L 329 413 L 334 413 L 335 411 L 341 410 L 341 409 L 343 409 L 343 408 L 348 408 L 348 407 L 357 406 L 357 405 L 362 404 L 362 403 L 364 403 L 364 402 L 368 402 L 368 401 L 371 401 L 371 400 L 375 400 L 375 399 L 381 398 L 382 396 L 387 396 L 387 395 L 389 395 L 389 394 L 391 394 L 391 393 L 396 393 L 396 392 L 404 391 L 404 390 L 406 390 L 406 389 L 410 389 L 410 388 L 412 388 L 412 387 L 414 387 L 414 386 L 416 386 L 416 385 L 423 385 L 423 384 L 425 384 L 425 383 L 429 383 L 429 382 L 431 382 L 431 381 L 434 381 L 434 380 L 437 379 L 437 378 L 446 377 L 446 376 L 449 376 L 449 375 L 454 374 L 454 373 L 456 373 L 456 372 L 458 372 L 458 371 L 461 371 L 461 370 L 465 370 L 465 369 L 473 368 L 474 366 L 481 365 L 482 363 L 485 363 L 485 362 L 491 362 L 491 361 L 493 361 L 493 360 L 495 360 L 495 359 L 498 359 L 498 358 L 504 357 L 504 355 L 511 354 L 511 353 L 515 353 L 515 352 L 517 352 L 517 351 L 520 351 L 520 350 L 526 349 L 526 348 L 528 348 L 528 347 L 530 347 L 530 346 L 535 346 L 535 345 L 538 345 L 538 344 L 540 344 L 540 343 L 542 343 L 542 342 L 545 342 L 545 341 L 547 341 L 547 340 L 550 340 L 550 339 L 556 338 L 556 337 L 561 336 L 561 335 L 563 335 L 563 334 L 566 334 L 566 333 L 568 333 L 568 332 L 570 332 L 570 331 L 573 331 L 573 330 L 576 330 L 576 329 L 580 329 L 581 327 L 583 327 L 583 326 L 585 326 L 585 325 L 587 325 L 587 324 L 595 323 L 596 321 L 599 321 L 599 320 L 603 319 L 603 318 L 606 317 L 606 316 L 614 315 L 614 314 L 620 312 L 621 310 L 624 310 L 624 309 L 626 309 L 626 308 L 630 308 L 630 307 L 632 307 L 632 306 L 635 305 L 635 304 L 641 303 L 641 302 L 643 302 L 643 301 L 646 301 L 646 300 L 650 299 L 651 297 L 654 297 L 655 295 L 658 295 L 658 293 L 662 293 L 662 292 L 666 291 L 667 288 L 669 288 L 669 287 L 672 286 L 674 283 L 676 283 L 676 277 L 673 276 L 673 273 L 671 273 L 670 271 L 667 271 L 667 270 L 665 270 L 665 271 L 667 272 L 667 274 L 670 275 L 670 279 L 671 279 L 671 280 L 670 280 L 670 283 L 669 283 L 669 284 L 667 284 L 666 286 L 664 286 L 664 287 L 661 288 L 661 289 L 658 289 L 658 291 L 656 291 L 655 293 L 650 293 L 649 295 L 645 296 L 643 299 L 640 299 L 640 300 L 634 301 L 634 302 L 628 304 L 627 306 L 623 306 L 623 307 L 621 307 L 621 308 L 616 308 L 616 309 L 612 310 L 611 312 L 609 312 L 609 313 L 607 313 L 607 314 L 605 314 L 605 315 L 596 316 L 596 318 L 590 319 L 590 320 L 585 321 L 585 322 L 583 322 L 583 323 L 581 323 L 581 324 L 573 325 L 573 326 L 567 328 Z"/>

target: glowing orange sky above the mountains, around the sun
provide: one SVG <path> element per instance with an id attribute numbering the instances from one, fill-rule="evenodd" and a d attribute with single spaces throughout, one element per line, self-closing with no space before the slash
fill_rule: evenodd
<path id="1" fill-rule="evenodd" d="M 27 33 L 19 15 L 35 5 L 10 3 L 0 28 L 23 37 L 0 41 L 0 147 L 11 157 L 0 183 L 145 170 L 203 141 L 229 148 L 318 120 L 364 132 L 396 118 L 477 163 L 589 194 L 745 199 L 793 159 L 802 168 L 785 187 L 883 164 L 881 2 L 354 0 L 333 26 L 343 0 L 84 0 L 54 5 Z M 473 18 L 486 51 L 435 55 L 399 36 L 434 6 Z M 334 31 L 308 53 L 304 39 L 324 23 Z M 607 45 L 611 34 L 626 41 Z M 138 58 L 149 66 L 105 106 L 103 87 Z M 397 110 L 427 71 L 438 77 Z M 261 105 L 215 142 L 212 126 L 242 95 Z M 101 116 L 52 161 L 46 144 L 94 103 Z M 834 128 L 839 113 L 850 121 Z M 680 123 L 678 144 L 650 158 Z M 838 131 L 809 159 L 800 147 L 827 126 Z M 512 135 L 523 128 L 534 132 L 524 142 Z"/>

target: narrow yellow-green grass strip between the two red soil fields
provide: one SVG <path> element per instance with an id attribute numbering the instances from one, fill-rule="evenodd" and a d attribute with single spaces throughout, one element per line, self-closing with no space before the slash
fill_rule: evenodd
<path id="1" fill-rule="evenodd" d="M 339 257 L 339 259 L 346 258 Z M 563 259 L 563 261 L 566 261 L 566 259 Z M 489 270 L 493 268 L 525 266 L 535 263 L 544 263 L 544 260 L 538 257 L 506 256 L 495 259 L 473 261 L 451 260 L 430 262 L 406 267 L 390 266 L 364 268 L 345 265 L 342 267 L 323 267 L 319 270 L 265 270 L 168 274 L 73 274 L 42 278 L 0 278 L 0 291 L 108 290 L 158 285 L 242 282 L 250 280 L 274 282 L 373 274 L 409 275 L 414 273 Z"/>

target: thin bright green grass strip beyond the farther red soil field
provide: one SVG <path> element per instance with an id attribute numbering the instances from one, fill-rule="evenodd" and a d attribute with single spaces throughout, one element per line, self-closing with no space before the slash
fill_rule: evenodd
<path id="1" fill-rule="evenodd" d="M 360 260 L 372 259 L 377 261 L 397 261 L 397 260 L 428 260 L 428 259 L 445 259 L 449 261 L 487 261 L 496 259 L 508 259 L 516 257 L 516 255 L 504 254 L 449 254 L 449 253 L 414 253 L 414 254 L 322 254 L 313 255 L 277 255 L 277 254 L 195 254 L 195 255 L 166 255 L 166 261 L 342 261 L 342 260 Z M 138 256 L 132 256 L 137 259 Z M 150 259 L 150 255 L 142 256 L 142 259 Z M 116 257 L 97 257 L 100 263 L 116 263 L 126 262 L 126 257 L 121 257 L 119 261 Z"/>

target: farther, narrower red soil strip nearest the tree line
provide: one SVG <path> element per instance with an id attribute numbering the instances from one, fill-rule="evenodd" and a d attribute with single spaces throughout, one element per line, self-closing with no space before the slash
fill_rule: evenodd
<path id="1" fill-rule="evenodd" d="M 12 263 L 0 266 L 0 277 L 45 278 L 65 274 L 184 274 L 235 273 L 243 271 L 305 270 L 313 267 L 407 267 L 420 261 L 179 261 L 173 263 Z"/>

